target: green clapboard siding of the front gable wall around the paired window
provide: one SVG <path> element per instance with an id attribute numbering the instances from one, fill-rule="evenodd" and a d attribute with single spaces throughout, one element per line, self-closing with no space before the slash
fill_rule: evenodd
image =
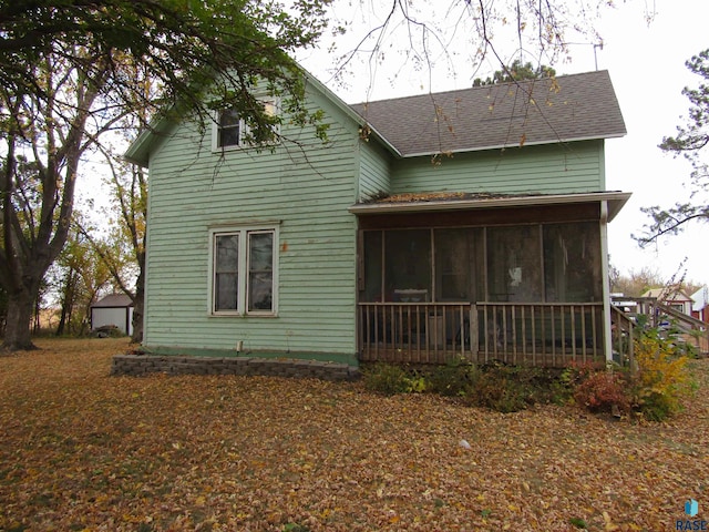
<path id="1" fill-rule="evenodd" d="M 345 356 L 356 364 L 357 125 L 319 93 L 330 143 L 285 124 L 297 143 L 213 153 L 183 124 L 152 154 L 144 345 Z M 210 227 L 277 223 L 276 317 L 209 315 Z M 305 356 L 305 355 L 304 355 Z"/>

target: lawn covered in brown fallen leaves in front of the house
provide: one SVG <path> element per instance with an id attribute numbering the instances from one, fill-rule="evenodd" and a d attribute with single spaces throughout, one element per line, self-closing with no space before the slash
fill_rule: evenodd
<path id="1" fill-rule="evenodd" d="M 669 531 L 689 498 L 708 519 L 709 360 L 687 410 L 649 424 L 361 383 L 111 377 L 126 340 L 38 345 L 0 358 L 3 531 Z"/>

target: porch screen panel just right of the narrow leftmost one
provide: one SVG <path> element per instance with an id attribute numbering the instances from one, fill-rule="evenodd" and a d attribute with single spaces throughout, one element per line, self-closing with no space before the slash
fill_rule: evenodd
<path id="1" fill-rule="evenodd" d="M 429 229 L 384 233 L 384 299 L 431 300 L 431 232 Z"/>

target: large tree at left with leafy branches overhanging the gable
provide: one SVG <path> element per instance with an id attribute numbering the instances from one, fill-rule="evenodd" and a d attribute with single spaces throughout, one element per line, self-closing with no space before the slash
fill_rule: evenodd
<path id="1" fill-rule="evenodd" d="M 278 117 L 254 95 L 258 83 L 282 94 L 297 121 L 317 119 L 291 55 L 316 42 L 328 1 L 0 0 L 4 349 L 33 347 L 40 282 L 66 242 L 81 163 L 102 135 L 136 105 L 204 125 L 229 105 L 255 141 L 271 141 Z M 160 98 L 145 96 L 148 80 Z"/>

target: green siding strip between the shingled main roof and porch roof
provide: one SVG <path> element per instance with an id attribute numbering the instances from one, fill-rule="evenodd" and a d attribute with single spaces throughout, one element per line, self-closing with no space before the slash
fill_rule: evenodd
<path id="1" fill-rule="evenodd" d="M 605 190 L 603 141 L 397 161 L 392 193 L 567 194 Z"/>

